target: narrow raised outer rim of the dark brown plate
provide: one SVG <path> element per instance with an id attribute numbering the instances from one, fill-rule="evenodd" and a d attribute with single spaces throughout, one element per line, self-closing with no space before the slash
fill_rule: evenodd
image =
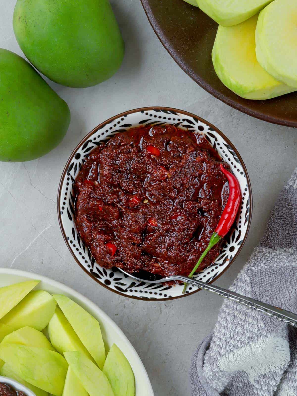
<path id="1" fill-rule="evenodd" d="M 290 119 L 285 119 L 281 117 L 274 117 L 274 116 L 269 116 L 266 114 L 261 113 L 260 111 L 255 111 L 252 109 L 249 109 L 245 107 L 244 105 L 241 105 L 240 103 L 237 103 L 234 101 L 234 99 L 230 99 L 225 93 L 219 92 L 217 89 L 213 88 L 210 84 L 208 84 L 206 81 L 204 81 L 203 78 L 201 78 L 194 70 L 189 69 L 187 67 L 187 64 L 181 57 L 178 51 L 176 51 L 170 44 L 170 41 L 164 34 L 163 30 L 160 28 L 154 13 L 152 12 L 152 9 L 149 5 L 148 0 L 140 0 L 141 4 L 143 6 L 143 10 L 145 11 L 145 14 L 147 15 L 147 19 L 150 22 L 150 25 L 152 26 L 152 29 L 156 33 L 156 36 L 160 40 L 160 42 L 163 44 L 164 48 L 166 51 L 169 53 L 169 55 L 173 58 L 173 60 L 179 65 L 181 69 L 190 77 L 192 80 L 194 80 L 201 88 L 203 88 L 205 91 L 213 95 L 215 98 L 219 99 L 221 102 L 225 103 L 226 105 L 233 107 L 233 109 L 236 109 L 244 114 L 247 114 L 251 117 L 258 118 L 259 120 L 262 121 L 267 121 L 272 124 L 276 125 L 282 125 L 282 126 L 287 126 L 290 128 L 297 128 L 297 120 L 290 120 Z M 249 100 L 249 99 L 246 99 Z M 273 99 L 269 99 L 273 100 Z"/>

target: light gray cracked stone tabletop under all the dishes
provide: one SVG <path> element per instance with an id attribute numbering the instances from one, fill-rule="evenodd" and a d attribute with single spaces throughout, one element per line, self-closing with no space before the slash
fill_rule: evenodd
<path id="1" fill-rule="evenodd" d="M 217 282 L 228 287 L 261 238 L 278 192 L 296 164 L 297 131 L 251 118 L 195 84 L 154 34 L 139 0 L 112 1 L 126 56 L 109 81 L 87 89 L 49 84 L 69 104 L 63 142 L 43 158 L 0 163 L 1 267 L 37 272 L 93 300 L 126 333 L 156 396 L 189 395 L 188 369 L 196 345 L 215 324 L 221 299 L 201 291 L 183 299 L 146 303 L 97 285 L 74 262 L 57 220 L 57 187 L 72 149 L 94 126 L 127 109 L 172 106 L 206 118 L 238 148 L 253 188 L 251 230 L 240 256 Z M 22 55 L 12 29 L 14 1 L 0 0 L 0 47 Z"/>

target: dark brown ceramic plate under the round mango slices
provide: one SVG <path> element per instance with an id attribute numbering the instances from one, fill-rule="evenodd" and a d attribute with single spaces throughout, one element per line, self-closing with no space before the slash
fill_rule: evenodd
<path id="1" fill-rule="evenodd" d="M 227 105 L 274 124 L 297 128 L 297 93 L 267 101 L 243 99 L 225 87 L 213 69 L 211 51 L 217 23 L 183 0 L 141 0 L 162 44 L 177 64 Z"/>

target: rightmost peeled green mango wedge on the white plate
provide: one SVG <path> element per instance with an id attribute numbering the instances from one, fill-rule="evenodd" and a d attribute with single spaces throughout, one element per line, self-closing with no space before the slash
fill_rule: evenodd
<path id="1" fill-rule="evenodd" d="M 130 363 L 123 352 L 113 344 L 107 354 L 103 373 L 106 375 L 114 396 L 135 396 L 135 379 Z"/>

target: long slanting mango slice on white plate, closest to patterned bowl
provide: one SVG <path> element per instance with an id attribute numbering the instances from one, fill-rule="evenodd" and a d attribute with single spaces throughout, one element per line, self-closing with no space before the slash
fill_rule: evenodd
<path id="1" fill-rule="evenodd" d="M 53 297 L 80 341 L 82 341 L 97 366 L 102 370 L 105 362 L 105 346 L 99 322 L 70 298 L 61 294 L 54 294 Z M 65 350 L 63 352 L 68 351 Z"/>

